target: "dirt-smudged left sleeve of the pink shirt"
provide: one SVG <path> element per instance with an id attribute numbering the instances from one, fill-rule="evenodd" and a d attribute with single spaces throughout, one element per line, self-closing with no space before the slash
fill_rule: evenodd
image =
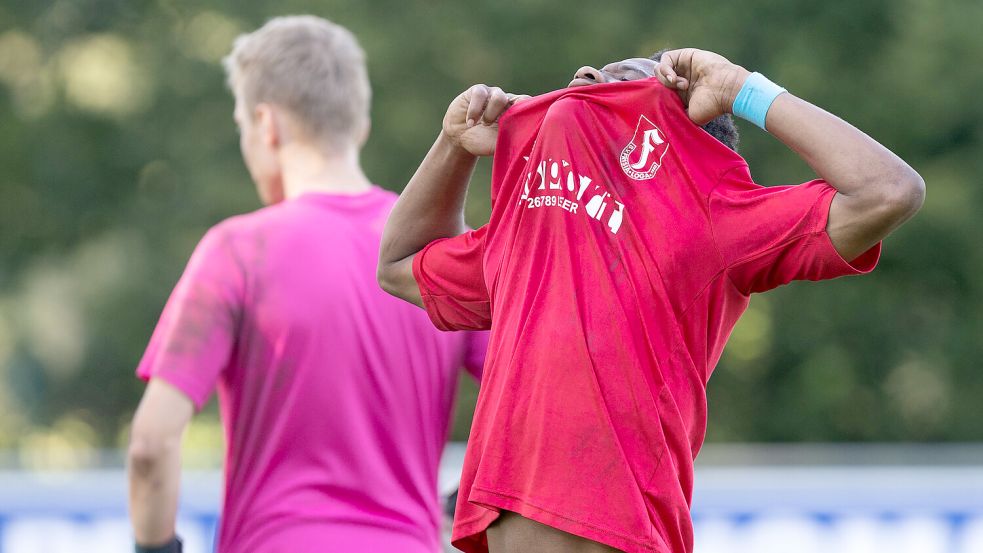
<path id="1" fill-rule="evenodd" d="M 229 241 L 210 230 L 191 256 L 137 367 L 204 407 L 235 343 L 244 281 Z"/>

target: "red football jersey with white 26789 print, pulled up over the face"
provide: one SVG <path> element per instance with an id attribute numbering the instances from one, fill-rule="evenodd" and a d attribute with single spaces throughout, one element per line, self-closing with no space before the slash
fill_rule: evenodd
<path id="1" fill-rule="evenodd" d="M 836 190 L 762 187 L 655 79 L 500 123 L 492 215 L 414 259 L 442 329 L 492 333 L 453 540 L 500 509 L 628 552 L 693 549 L 706 383 L 752 292 L 873 269 L 826 234 Z"/>

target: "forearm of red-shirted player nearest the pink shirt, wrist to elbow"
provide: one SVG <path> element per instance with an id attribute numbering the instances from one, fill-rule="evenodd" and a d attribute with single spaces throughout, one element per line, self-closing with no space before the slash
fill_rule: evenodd
<path id="1" fill-rule="evenodd" d="M 467 230 L 464 200 L 476 162 L 440 133 L 389 215 L 380 263 L 406 259 L 437 238 Z"/>

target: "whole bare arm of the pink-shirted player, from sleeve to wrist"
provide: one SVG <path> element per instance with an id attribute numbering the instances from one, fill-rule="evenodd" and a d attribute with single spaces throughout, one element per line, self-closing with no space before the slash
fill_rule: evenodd
<path id="1" fill-rule="evenodd" d="M 130 520 L 139 545 L 152 547 L 174 538 L 181 484 L 181 437 L 194 414 L 192 401 L 170 384 L 147 385 L 133 417 L 127 472 Z"/>

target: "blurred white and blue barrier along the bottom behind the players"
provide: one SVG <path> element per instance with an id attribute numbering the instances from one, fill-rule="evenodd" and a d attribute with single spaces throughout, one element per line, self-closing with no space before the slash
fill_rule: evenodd
<path id="1" fill-rule="evenodd" d="M 445 494 L 463 444 L 448 447 Z M 981 446 L 707 446 L 697 467 L 695 553 L 979 553 Z M 188 471 L 178 528 L 211 551 L 219 471 Z M 122 470 L 0 471 L 0 553 L 131 550 Z M 447 551 L 454 551 L 445 544 Z"/>

